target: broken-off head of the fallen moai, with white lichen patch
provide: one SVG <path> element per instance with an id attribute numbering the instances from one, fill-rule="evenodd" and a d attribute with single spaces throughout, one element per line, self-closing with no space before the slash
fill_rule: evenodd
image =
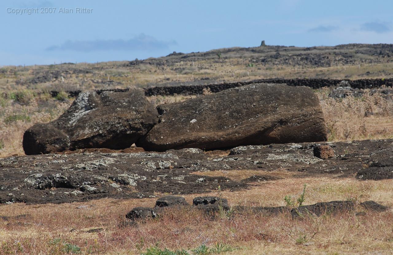
<path id="1" fill-rule="evenodd" d="M 123 149 L 147 134 L 157 118 L 143 90 L 81 92 L 57 120 L 29 128 L 23 148 L 27 155 L 77 148 Z"/>

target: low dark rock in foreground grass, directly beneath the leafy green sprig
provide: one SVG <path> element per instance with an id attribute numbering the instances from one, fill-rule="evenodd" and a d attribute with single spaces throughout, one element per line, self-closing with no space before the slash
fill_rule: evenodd
<path id="1" fill-rule="evenodd" d="M 307 215 L 321 216 L 326 213 L 335 214 L 353 211 L 355 205 L 352 201 L 331 201 L 299 206 L 291 210 L 292 217 L 305 217 Z"/>

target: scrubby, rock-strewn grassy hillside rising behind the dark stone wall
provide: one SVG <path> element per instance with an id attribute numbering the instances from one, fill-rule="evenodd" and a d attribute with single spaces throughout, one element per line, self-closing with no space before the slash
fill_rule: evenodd
<path id="1" fill-rule="evenodd" d="M 0 92 L 195 85 L 258 78 L 391 78 L 393 45 L 265 46 L 101 63 L 6 66 Z"/>

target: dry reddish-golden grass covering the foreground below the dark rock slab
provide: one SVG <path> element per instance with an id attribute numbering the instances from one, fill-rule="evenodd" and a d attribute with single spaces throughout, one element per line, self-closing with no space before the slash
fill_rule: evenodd
<path id="1" fill-rule="evenodd" d="M 282 206 L 285 195 L 299 195 L 307 184 L 306 204 L 352 199 L 373 199 L 393 206 L 393 181 L 357 181 L 309 177 L 257 183 L 250 190 L 223 191 L 231 204 Z M 158 194 L 162 195 L 162 194 Z M 211 192 L 209 195 L 217 195 Z M 197 195 L 186 195 L 192 203 Z M 367 212 L 292 219 L 288 213 L 263 216 L 252 213 L 212 221 L 198 211 L 172 209 L 156 220 L 122 226 L 124 215 L 135 206 L 154 205 L 155 199 L 100 199 L 84 203 L 11 204 L 0 215 L 28 214 L 26 219 L 0 219 L 0 254 L 64 254 L 68 243 L 82 254 L 140 254 L 151 246 L 171 250 L 201 244 L 228 244 L 236 251 L 223 254 L 391 254 L 393 212 Z M 362 210 L 358 208 L 358 210 Z M 98 233 L 86 233 L 103 228 Z"/>

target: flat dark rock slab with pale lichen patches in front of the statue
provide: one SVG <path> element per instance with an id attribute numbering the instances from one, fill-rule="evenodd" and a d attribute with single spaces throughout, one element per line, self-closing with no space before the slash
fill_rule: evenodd
<path id="1" fill-rule="evenodd" d="M 230 155 L 221 157 L 183 149 L 168 152 L 132 150 L 130 153 L 83 150 L 0 158 L 0 203 L 148 198 L 155 197 L 154 192 L 200 194 L 211 192 L 217 186 L 226 191 L 239 190 L 255 185 L 258 180 L 285 178 L 288 171 L 298 177 L 353 178 L 357 173 L 357 178 L 363 180 L 371 176 L 364 175 L 364 171 L 371 170 L 374 179 L 393 178 L 393 175 L 386 175 L 391 173 L 393 165 L 393 139 L 323 144 L 334 148 L 336 157 L 326 160 L 314 157 L 313 148 L 320 143 L 289 143 L 239 146 L 233 148 Z M 248 178 L 234 181 L 204 173 L 239 168 L 261 170 L 263 174 L 253 172 Z M 268 176 L 265 171 L 274 172 Z M 281 171 L 286 174 L 281 175 Z"/>

